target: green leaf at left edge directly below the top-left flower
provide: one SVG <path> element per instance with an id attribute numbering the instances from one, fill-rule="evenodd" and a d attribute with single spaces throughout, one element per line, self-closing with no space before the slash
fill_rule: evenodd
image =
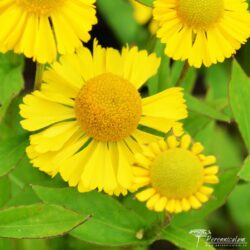
<path id="1" fill-rule="evenodd" d="M 23 57 L 13 52 L 0 54 L 0 121 L 12 99 L 24 87 L 23 64 Z"/>

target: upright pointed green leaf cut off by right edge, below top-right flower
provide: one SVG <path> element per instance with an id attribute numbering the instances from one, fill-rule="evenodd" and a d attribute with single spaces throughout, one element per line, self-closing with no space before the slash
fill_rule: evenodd
<path id="1" fill-rule="evenodd" d="M 236 61 L 233 63 L 229 97 L 233 115 L 250 152 L 250 79 Z"/>

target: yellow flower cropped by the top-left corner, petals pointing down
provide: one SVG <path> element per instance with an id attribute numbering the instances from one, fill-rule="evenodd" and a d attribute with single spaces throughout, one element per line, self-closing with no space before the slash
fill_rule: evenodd
<path id="1" fill-rule="evenodd" d="M 97 23 L 95 0 L 1 0 L 0 52 L 14 50 L 39 63 L 73 53 Z"/>

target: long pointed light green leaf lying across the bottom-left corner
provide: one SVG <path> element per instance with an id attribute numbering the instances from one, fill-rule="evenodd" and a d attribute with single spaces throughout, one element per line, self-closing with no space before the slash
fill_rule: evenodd
<path id="1" fill-rule="evenodd" d="M 0 211 L 0 237 L 44 238 L 63 235 L 86 217 L 60 206 L 36 204 Z"/>

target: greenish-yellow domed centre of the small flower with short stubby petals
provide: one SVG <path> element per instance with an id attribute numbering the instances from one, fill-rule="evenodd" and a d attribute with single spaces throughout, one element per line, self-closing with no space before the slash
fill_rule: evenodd
<path id="1" fill-rule="evenodd" d="M 166 150 L 151 165 L 153 187 L 168 198 L 184 198 L 203 183 L 203 166 L 197 156 L 180 148 Z"/>

